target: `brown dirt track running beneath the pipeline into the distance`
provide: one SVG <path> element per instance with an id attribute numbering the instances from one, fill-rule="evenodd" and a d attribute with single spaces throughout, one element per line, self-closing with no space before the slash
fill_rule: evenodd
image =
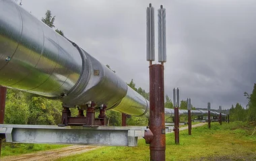
<path id="1" fill-rule="evenodd" d="M 197 123 L 195 125 L 192 125 L 192 127 L 198 127 L 201 125 L 205 125 L 205 123 Z M 181 130 L 187 129 L 186 127 L 181 127 Z M 56 150 L 47 150 L 42 152 L 36 152 L 36 153 L 30 153 L 30 154 L 22 154 L 20 156 L 6 156 L 1 159 L 1 161 L 14 161 L 14 160 L 20 160 L 20 161 L 34 161 L 34 160 L 56 160 L 58 158 L 62 158 L 65 156 L 70 156 L 74 154 L 81 154 L 84 152 L 88 152 L 90 150 L 95 150 L 97 148 L 101 148 L 101 146 L 69 146 L 65 148 L 59 148 Z"/>

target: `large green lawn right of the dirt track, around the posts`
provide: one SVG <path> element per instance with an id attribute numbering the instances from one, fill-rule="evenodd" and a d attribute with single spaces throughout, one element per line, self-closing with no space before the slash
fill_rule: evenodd
<path id="1" fill-rule="evenodd" d="M 247 123 L 212 123 L 180 131 L 180 144 L 174 144 L 174 133 L 166 134 L 166 160 L 256 160 L 255 125 Z M 250 137 L 251 136 L 251 137 Z M 150 160 L 149 145 L 139 140 L 137 147 L 102 147 L 84 154 L 59 160 Z"/>

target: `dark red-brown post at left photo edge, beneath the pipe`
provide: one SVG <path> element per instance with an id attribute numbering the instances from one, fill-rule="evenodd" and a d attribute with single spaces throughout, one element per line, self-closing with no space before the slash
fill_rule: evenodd
<path id="1" fill-rule="evenodd" d="M 5 100 L 6 87 L 0 87 L 0 124 L 3 124 L 5 118 Z M 2 138 L 0 138 L 0 159 L 1 159 Z"/>

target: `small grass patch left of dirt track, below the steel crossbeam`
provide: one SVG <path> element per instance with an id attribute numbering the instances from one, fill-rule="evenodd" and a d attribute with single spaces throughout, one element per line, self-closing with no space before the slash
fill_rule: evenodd
<path id="1" fill-rule="evenodd" d="M 20 154 L 28 154 L 32 152 L 38 152 L 43 150 L 53 150 L 57 148 L 63 148 L 67 145 L 55 145 L 55 144 L 11 144 L 2 143 L 1 157 L 3 156 L 17 156 Z"/>

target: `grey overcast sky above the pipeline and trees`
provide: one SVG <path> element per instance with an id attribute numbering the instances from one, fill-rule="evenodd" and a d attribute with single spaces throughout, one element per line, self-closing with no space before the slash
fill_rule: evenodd
<path id="1" fill-rule="evenodd" d="M 244 107 L 256 83 L 256 1 L 22 0 L 41 19 L 47 9 L 55 26 L 89 54 L 109 64 L 126 82 L 149 91 L 146 7 L 166 8 L 165 93 L 179 87 L 195 107 Z M 157 16 L 155 15 L 155 18 Z M 157 29 L 157 28 L 156 28 Z M 157 35 L 156 35 L 157 37 Z M 156 40 L 157 42 L 157 40 Z M 157 44 L 156 44 L 157 46 Z M 157 48 L 156 48 L 157 53 Z M 157 56 L 157 54 L 156 54 Z M 156 57 L 157 58 L 157 57 Z M 156 59 L 157 60 L 157 59 Z"/>

